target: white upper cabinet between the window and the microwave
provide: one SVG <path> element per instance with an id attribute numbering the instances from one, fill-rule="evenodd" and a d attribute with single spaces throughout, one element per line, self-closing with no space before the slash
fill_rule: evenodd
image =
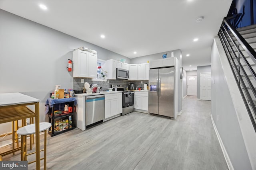
<path id="1" fill-rule="evenodd" d="M 108 72 L 107 74 L 108 80 L 116 80 L 116 64 L 117 64 L 117 61 L 113 59 L 107 60 L 103 64 L 102 70 L 105 70 Z"/>

